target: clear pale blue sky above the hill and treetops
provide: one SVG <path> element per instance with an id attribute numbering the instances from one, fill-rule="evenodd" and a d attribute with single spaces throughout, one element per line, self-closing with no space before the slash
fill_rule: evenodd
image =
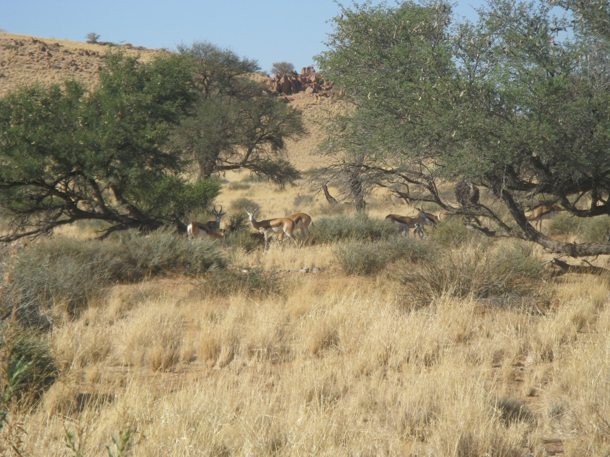
<path id="1" fill-rule="evenodd" d="M 485 3 L 459 0 L 455 12 L 474 19 L 473 7 Z M 75 41 L 95 32 L 100 40 L 146 48 L 208 40 L 269 71 L 282 60 L 297 69 L 311 65 L 337 12 L 332 0 L 0 0 L 0 29 Z"/>

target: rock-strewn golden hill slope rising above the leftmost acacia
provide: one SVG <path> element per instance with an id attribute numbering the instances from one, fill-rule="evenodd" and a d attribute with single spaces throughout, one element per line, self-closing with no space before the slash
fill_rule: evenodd
<path id="1" fill-rule="evenodd" d="M 163 52 L 124 45 L 116 48 L 137 52 L 142 62 Z M 100 44 L 0 32 L 0 97 L 34 82 L 76 79 L 91 86 L 98 80 L 108 49 Z"/>

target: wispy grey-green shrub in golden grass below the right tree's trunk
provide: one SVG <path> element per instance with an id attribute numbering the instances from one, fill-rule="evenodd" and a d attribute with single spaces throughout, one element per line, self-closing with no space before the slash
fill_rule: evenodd
<path id="1" fill-rule="evenodd" d="M 406 286 L 403 300 L 419 303 L 447 295 L 523 302 L 548 298 L 548 291 L 542 287 L 542 274 L 542 262 L 532 247 L 511 243 L 493 252 L 472 246 L 424 257 L 419 268 L 405 269 L 398 279 Z"/>

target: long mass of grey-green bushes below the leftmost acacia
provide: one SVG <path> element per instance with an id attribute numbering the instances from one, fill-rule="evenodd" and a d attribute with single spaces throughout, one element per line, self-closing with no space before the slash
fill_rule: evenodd
<path id="1" fill-rule="evenodd" d="M 118 240 L 51 239 L 21 252 L 7 292 L 18 303 L 19 317 L 29 325 L 45 325 L 43 308 L 63 305 L 78 313 L 101 300 L 108 286 L 171 272 L 198 276 L 224 267 L 226 260 L 215 240 L 192 243 L 170 230 L 148 236 L 127 232 Z"/>

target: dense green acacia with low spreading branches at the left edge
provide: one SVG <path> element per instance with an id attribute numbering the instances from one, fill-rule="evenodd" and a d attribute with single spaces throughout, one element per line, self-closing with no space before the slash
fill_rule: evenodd
<path id="1" fill-rule="evenodd" d="M 0 205 L 9 230 L 32 237 L 80 219 L 130 227 L 174 225 L 205 208 L 218 184 L 184 182 L 164 147 L 193 99 L 184 59 L 107 55 L 90 93 L 75 82 L 24 87 L 0 99 Z"/>

